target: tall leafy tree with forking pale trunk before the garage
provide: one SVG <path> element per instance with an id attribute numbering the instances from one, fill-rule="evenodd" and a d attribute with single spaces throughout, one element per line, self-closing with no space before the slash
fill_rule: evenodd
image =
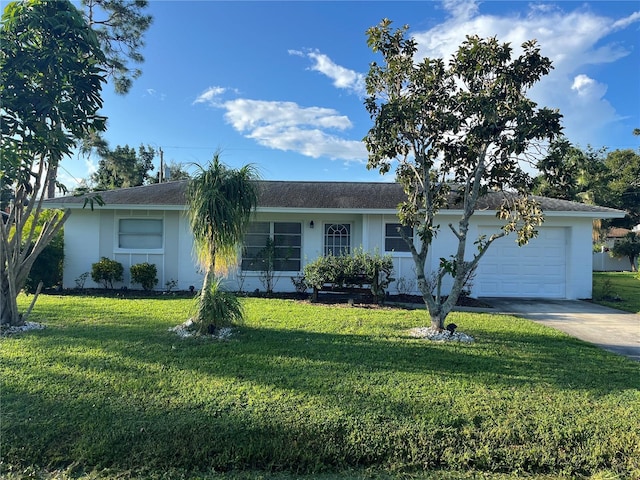
<path id="1" fill-rule="evenodd" d="M 531 179 L 522 162 L 533 162 L 545 142 L 560 134 L 561 115 L 527 97 L 527 89 L 551 69 L 535 41 L 514 56 L 507 43 L 469 36 L 448 62 L 419 60 L 408 26 L 393 29 L 391 23 L 385 19 L 367 31 L 369 47 L 382 56 L 366 78 L 365 106 L 373 120 L 364 138 L 367 167 L 382 174 L 396 168 L 407 194 L 398 215 L 417 239 L 402 229 L 400 234 L 409 244 L 431 326 L 441 330 L 491 244 L 513 233 L 524 245 L 537 234 L 543 214 L 529 197 Z M 503 193 L 497 212 L 502 227 L 469 239 L 479 202 L 496 192 Z M 440 259 L 434 288 L 425 277 L 427 255 L 440 230 L 436 216 L 452 200 L 462 210 L 457 224 L 447 226 L 457 246 Z M 443 294 L 446 276 L 452 287 Z"/>

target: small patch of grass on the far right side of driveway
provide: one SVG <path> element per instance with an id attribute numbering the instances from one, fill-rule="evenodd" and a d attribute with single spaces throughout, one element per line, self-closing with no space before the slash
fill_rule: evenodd
<path id="1" fill-rule="evenodd" d="M 640 314 L 640 278 L 632 272 L 593 272 L 593 300 Z"/>

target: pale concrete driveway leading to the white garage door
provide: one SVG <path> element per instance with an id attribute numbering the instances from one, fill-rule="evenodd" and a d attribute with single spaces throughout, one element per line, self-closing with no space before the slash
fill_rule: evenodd
<path id="1" fill-rule="evenodd" d="M 640 362 L 640 315 L 581 300 L 482 300 L 496 312 L 534 320 Z"/>

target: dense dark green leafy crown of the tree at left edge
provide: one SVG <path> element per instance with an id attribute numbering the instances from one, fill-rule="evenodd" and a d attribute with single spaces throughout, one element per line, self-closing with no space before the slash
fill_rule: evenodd
<path id="1" fill-rule="evenodd" d="M 22 155 L 20 164 L 40 155 L 57 163 L 78 139 L 104 130 L 105 57 L 70 2 L 10 3 L 0 35 L 2 145 Z"/>

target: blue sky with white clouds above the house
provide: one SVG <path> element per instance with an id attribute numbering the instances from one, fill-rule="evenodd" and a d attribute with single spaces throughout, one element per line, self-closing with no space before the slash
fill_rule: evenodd
<path id="1" fill-rule="evenodd" d="M 640 145 L 637 1 L 152 0 L 149 12 L 143 75 L 126 96 L 103 92 L 112 148 L 149 144 L 203 165 L 220 150 L 271 180 L 391 181 L 366 169 L 361 142 L 364 77 L 379 60 L 365 31 L 385 17 L 409 25 L 422 56 L 448 59 L 467 34 L 537 39 L 555 68 L 530 96 L 560 109 L 569 140 Z M 73 187 L 96 165 L 66 159 L 61 180 Z"/>

